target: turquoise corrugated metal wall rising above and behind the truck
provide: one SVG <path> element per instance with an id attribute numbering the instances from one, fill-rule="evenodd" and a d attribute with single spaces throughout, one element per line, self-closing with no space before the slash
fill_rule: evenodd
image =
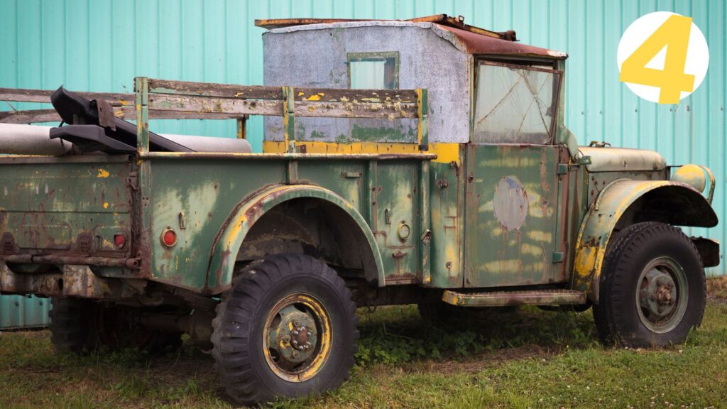
<path id="1" fill-rule="evenodd" d="M 254 27 L 256 18 L 447 13 L 497 31 L 513 28 L 525 43 L 569 53 L 566 122 L 580 143 L 606 140 L 656 149 L 670 164 L 696 162 L 715 171 L 720 226 L 708 235 L 726 242 L 721 222 L 727 215 L 723 0 L 0 0 L 0 10 L 0 87 L 66 84 L 73 90 L 109 92 L 129 91 L 136 75 L 262 84 L 262 29 Z M 704 84 L 678 106 L 643 102 L 618 82 L 620 34 L 640 15 L 657 10 L 691 15 L 710 45 Z M 197 135 L 235 132 L 232 122 L 153 126 Z M 252 119 L 249 130 L 260 150 L 261 119 Z"/>

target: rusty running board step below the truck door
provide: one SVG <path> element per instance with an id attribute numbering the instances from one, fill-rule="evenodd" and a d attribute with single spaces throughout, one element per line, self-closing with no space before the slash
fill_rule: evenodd
<path id="1" fill-rule="evenodd" d="M 492 291 L 455 293 L 444 290 L 442 301 L 453 306 L 560 306 L 585 304 L 586 293 L 574 290 Z"/>

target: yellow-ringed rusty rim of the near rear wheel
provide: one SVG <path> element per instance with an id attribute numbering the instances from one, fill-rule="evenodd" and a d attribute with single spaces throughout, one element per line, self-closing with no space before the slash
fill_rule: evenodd
<path id="1" fill-rule="evenodd" d="M 278 301 L 262 331 L 262 351 L 278 377 L 302 382 L 325 365 L 331 353 L 331 319 L 321 301 L 292 294 Z"/>

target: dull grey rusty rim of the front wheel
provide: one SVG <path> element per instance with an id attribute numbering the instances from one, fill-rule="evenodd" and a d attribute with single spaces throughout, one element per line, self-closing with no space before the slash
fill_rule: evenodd
<path id="1" fill-rule="evenodd" d="M 686 272 L 673 258 L 656 258 L 641 271 L 636 306 L 641 322 L 652 332 L 667 333 L 679 325 L 688 301 Z"/>

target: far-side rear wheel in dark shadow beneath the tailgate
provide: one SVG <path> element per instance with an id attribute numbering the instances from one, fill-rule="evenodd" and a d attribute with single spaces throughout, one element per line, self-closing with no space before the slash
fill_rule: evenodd
<path id="1" fill-rule="evenodd" d="M 100 347 L 159 352 L 182 344 L 181 333 L 139 325 L 139 309 L 82 298 L 53 298 L 51 341 L 57 352 L 82 354 Z"/>

